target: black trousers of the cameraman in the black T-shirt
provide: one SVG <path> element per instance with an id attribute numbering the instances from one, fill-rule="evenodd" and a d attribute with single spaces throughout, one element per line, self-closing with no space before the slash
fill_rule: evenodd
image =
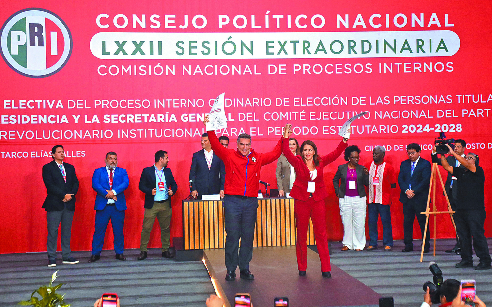
<path id="1" fill-rule="evenodd" d="M 456 230 L 460 237 L 461 258 L 468 262 L 473 262 L 473 251 L 471 243 L 473 238 L 473 248 L 480 262 L 491 264 L 489 246 L 485 238 L 485 209 L 481 210 L 456 210 L 453 215 L 456 223 Z"/>

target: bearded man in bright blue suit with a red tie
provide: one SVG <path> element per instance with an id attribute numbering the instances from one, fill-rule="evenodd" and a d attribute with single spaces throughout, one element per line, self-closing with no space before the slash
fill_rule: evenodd
<path id="1" fill-rule="evenodd" d="M 106 154 L 105 167 L 97 168 L 92 175 L 92 188 L 97 192 L 95 196 L 95 230 L 92 239 L 91 258 L 88 262 L 99 260 L 104 236 L 109 220 L 113 226 L 113 244 L 116 259 L 126 260 L 124 249 L 123 225 L 124 211 L 126 210 L 126 199 L 124 190 L 128 188 L 129 179 L 126 170 L 118 165 L 116 152 L 110 151 Z"/>

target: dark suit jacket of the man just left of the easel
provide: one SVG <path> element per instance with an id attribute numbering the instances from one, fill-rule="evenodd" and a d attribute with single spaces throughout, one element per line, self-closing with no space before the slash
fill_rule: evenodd
<path id="1" fill-rule="evenodd" d="M 429 183 L 431 182 L 431 162 L 422 158 L 415 166 L 412 176 L 412 162 L 410 159 L 406 159 L 401 162 L 400 172 L 398 173 L 398 185 L 400 186 L 400 202 L 403 204 L 417 205 L 422 211 L 425 210 L 427 204 L 427 197 L 429 195 Z M 408 199 L 405 191 L 412 184 L 412 190 L 415 196 L 412 199 Z"/>

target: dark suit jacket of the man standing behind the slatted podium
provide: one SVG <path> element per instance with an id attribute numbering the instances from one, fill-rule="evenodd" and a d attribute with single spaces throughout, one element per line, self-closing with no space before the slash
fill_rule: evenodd
<path id="1" fill-rule="evenodd" d="M 224 190 L 224 162 L 214 153 L 209 170 L 203 149 L 195 152 L 191 160 L 189 180 L 192 181 L 191 191 L 198 191 L 199 198 L 202 198 L 203 194 L 219 194 L 220 190 Z"/>

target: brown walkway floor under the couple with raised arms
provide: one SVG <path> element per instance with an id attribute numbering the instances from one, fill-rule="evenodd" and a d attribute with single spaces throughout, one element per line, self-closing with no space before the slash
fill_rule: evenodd
<path id="1" fill-rule="evenodd" d="M 310 249 L 305 276 L 298 274 L 295 246 L 262 247 L 253 249 L 250 271 L 255 279 L 240 279 L 238 268 L 234 281 L 224 279 L 224 249 L 204 253 L 231 306 L 237 292 L 250 293 L 254 307 L 274 306 L 274 297 L 284 296 L 292 307 L 379 306 L 379 294 L 333 263 L 332 277 L 323 278 L 319 256 Z"/>

